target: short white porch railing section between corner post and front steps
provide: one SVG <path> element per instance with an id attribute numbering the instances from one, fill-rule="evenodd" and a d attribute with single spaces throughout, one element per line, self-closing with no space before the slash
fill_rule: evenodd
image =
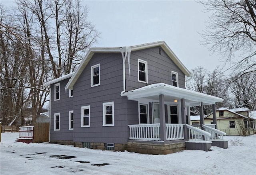
<path id="1" fill-rule="evenodd" d="M 167 140 L 183 140 L 184 139 L 184 124 L 166 124 L 166 139 Z"/>

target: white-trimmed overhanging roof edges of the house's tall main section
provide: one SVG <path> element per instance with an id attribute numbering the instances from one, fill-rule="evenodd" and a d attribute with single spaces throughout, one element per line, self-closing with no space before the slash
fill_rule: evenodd
<path id="1" fill-rule="evenodd" d="M 160 46 L 166 52 L 166 54 L 170 57 L 170 59 L 180 68 L 180 70 L 186 75 L 190 76 L 190 71 L 182 64 L 182 62 L 178 59 L 178 57 L 173 53 L 170 47 L 165 43 L 165 41 L 158 41 L 154 43 L 146 43 L 142 45 L 135 45 L 128 47 L 131 51 L 137 51 L 141 49 L 148 49 L 150 47 Z M 122 47 L 94 47 L 90 48 L 86 53 L 84 59 L 82 59 L 78 69 L 76 69 L 74 75 L 71 77 L 70 81 L 65 88 L 73 89 L 74 84 L 76 83 L 78 77 L 81 75 L 82 71 L 94 55 L 94 53 L 121 53 Z M 122 57 L 120 57 L 122 58 Z"/>

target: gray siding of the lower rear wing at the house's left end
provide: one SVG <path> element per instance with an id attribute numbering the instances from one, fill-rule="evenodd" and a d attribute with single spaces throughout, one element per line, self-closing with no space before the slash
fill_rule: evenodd
<path id="1" fill-rule="evenodd" d="M 54 85 L 51 88 L 51 138 L 50 140 L 73 140 L 73 130 L 69 130 L 69 111 L 73 110 L 73 97 L 65 90 L 68 79 L 60 81 L 60 100 L 54 101 Z M 60 130 L 54 131 L 54 114 L 60 113 Z"/>

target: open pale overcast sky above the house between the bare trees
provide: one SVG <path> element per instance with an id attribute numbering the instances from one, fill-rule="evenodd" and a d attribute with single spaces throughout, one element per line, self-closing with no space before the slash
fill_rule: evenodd
<path id="1" fill-rule="evenodd" d="M 220 56 L 211 55 L 207 46 L 200 45 L 199 33 L 205 29 L 210 14 L 202 12 L 203 6 L 195 1 L 94 0 L 83 4 L 89 8 L 88 20 L 101 33 L 94 47 L 165 41 L 189 70 L 203 66 L 212 71 L 223 65 Z"/>

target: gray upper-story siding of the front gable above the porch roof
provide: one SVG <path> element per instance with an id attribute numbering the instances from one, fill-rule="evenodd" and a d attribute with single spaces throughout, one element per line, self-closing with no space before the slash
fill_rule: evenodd
<path id="1" fill-rule="evenodd" d="M 126 91 L 144 87 L 154 83 L 166 83 L 172 85 L 172 71 L 178 73 L 178 84 L 180 88 L 185 88 L 185 75 L 168 55 L 159 48 L 152 47 L 132 51 L 130 55 L 130 75 L 128 63 L 126 62 Z M 148 62 L 148 83 L 138 82 L 138 59 Z"/>

